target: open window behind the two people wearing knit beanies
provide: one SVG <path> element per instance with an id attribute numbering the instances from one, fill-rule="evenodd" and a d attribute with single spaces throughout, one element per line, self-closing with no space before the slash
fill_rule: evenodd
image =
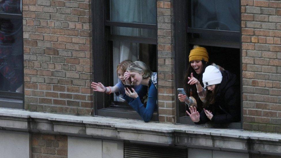
<path id="1" fill-rule="evenodd" d="M 240 1 L 175 1 L 174 8 L 176 88 L 183 87 L 183 70 L 187 70 L 193 45 L 205 47 L 210 63 L 234 73 L 241 82 Z M 194 124 L 186 116 L 186 105 L 177 99 L 177 106 L 177 123 Z M 228 127 L 241 128 L 241 123 Z"/>

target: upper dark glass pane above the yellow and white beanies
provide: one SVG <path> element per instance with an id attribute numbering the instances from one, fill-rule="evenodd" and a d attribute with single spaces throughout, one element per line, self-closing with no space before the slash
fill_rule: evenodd
<path id="1" fill-rule="evenodd" d="M 191 27 L 240 31 L 239 0 L 191 0 Z"/>

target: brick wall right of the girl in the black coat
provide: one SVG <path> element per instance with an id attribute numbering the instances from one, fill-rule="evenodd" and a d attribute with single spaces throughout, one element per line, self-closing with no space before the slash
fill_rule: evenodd
<path id="1" fill-rule="evenodd" d="M 281 132 L 281 1 L 241 5 L 243 128 Z"/>

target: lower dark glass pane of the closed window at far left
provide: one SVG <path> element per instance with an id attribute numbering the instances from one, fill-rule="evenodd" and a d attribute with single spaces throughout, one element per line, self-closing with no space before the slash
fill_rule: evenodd
<path id="1" fill-rule="evenodd" d="M 0 19 L 0 91 L 22 93 L 22 20 Z"/>

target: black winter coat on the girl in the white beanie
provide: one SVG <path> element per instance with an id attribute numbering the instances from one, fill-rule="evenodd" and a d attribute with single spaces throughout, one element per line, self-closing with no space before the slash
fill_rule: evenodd
<path id="1" fill-rule="evenodd" d="M 223 79 L 217 92 L 215 102 L 206 110 L 213 114 L 211 123 L 224 124 L 240 121 L 240 92 L 236 75 L 227 70 L 221 71 Z M 195 124 L 203 124 L 210 121 L 204 110 L 200 113 L 200 121 Z"/>

